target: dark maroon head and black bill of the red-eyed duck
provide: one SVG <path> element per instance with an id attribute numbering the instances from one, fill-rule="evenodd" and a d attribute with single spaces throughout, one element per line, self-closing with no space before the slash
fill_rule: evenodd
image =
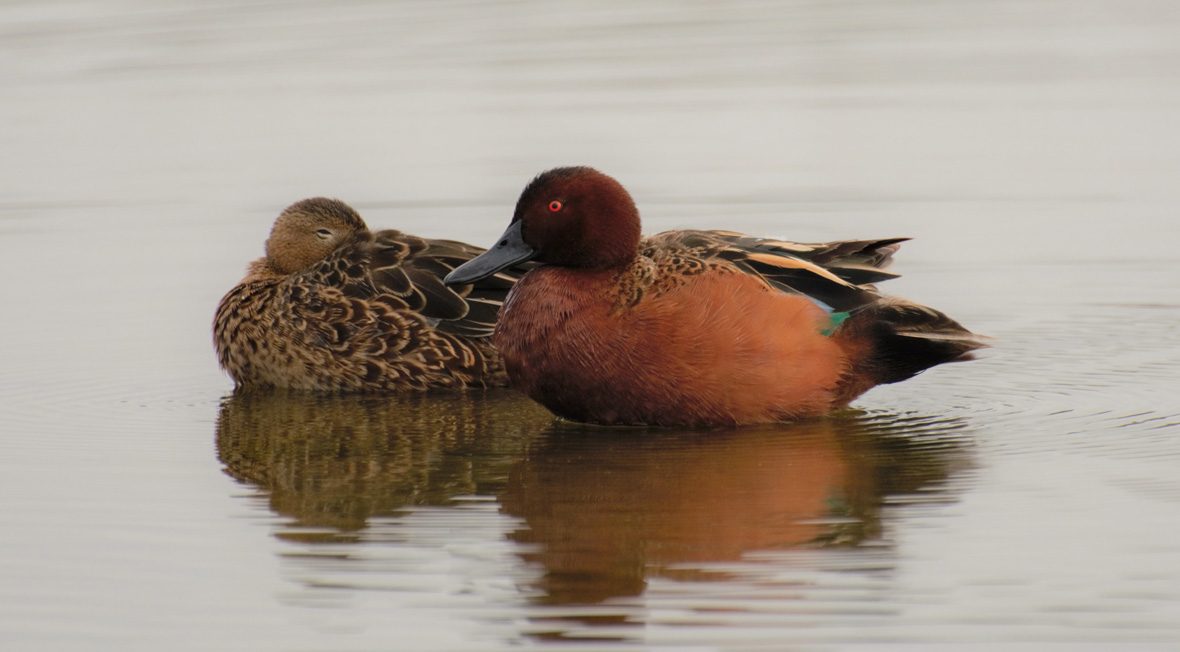
<path id="1" fill-rule="evenodd" d="M 611 269 L 635 258 L 638 245 L 640 212 L 618 182 L 592 167 L 557 167 L 524 189 L 500 239 L 446 282 L 471 283 L 530 259 Z"/>

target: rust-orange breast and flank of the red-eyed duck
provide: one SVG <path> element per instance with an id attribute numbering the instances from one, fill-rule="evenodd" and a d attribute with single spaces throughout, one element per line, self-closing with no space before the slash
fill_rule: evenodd
<path id="1" fill-rule="evenodd" d="M 640 257 L 623 272 L 530 272 L 494 341 L 512 384 L 560 416 L 722 426 L 831 409 L 847 363 L 825 323 L 758 277 Z"/>

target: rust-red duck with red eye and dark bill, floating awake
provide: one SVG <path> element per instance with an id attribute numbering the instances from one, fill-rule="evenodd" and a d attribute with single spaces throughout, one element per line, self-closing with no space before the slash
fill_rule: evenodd
<path id="1" fill-rule="evenodd" d="M 568 419 L 728 426 L 825 414 L 982 347 L 868 283 L 904 238 L 820 245 L 727 231 L 645 239 L 630 195 L 589 167 L 538 176 L 471 283 L 536 259 L 494 342 L 513 387 Z"/>

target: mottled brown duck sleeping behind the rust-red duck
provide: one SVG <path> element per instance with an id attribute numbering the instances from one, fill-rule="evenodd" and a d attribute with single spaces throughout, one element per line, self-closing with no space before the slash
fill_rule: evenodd
<path id="1" fill-rule="evenodd" d="M 222 298 L 221 365 L 238 388 L 402 390 L 503 386 L 490 335 L 514 272 L 447 288 L 483 250 L 371 232 L 342 202 L 287 208 L 267 255 Z"/>

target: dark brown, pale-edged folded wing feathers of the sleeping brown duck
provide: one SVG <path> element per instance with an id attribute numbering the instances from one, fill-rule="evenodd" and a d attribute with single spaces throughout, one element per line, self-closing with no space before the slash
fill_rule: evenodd
<path id="1" fill-rule="evenodd" d="M 335 287 L 352 298 L 417 312 L 446 332 L 487 337 L 505 295 L 524 270 L 504 270 L 472 285 L 442 283 L 452 269 L 481 252 L 460 242 L 384 230 L 341 246 L 296 282 Z"/>

